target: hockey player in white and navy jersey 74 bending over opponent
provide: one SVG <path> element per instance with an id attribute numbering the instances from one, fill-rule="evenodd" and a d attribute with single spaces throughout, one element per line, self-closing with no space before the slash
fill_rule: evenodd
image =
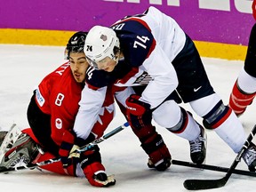
<path id="1" fill-rule="evenodd" d="M 100 98 L 108 84 L 124 87 L 146 84 L 140 93 L 130 95 L 124 106 L 132 130 L 149 156 L 149 167 L 160 166 L 159 170 L 164 170 L 170 166 L 171 159 L 168 149 L 163 148 L 162 137 L 151 124 L 152 118 L 189 141 L 194 163 L 204 162 L 204 128 L 177 104 L 173 98 L 173 95 L 177 97 L 176 92 L 204 119 L 204 126 L 214 130 L 235 153 L 242 148 L 244 128 L 214 92 L 195 44 L 175 20 L 155 7 L 118 20 L 111 28 L 93 27 L 86 38 L 84 52 L 90 65 L 98 70 L 87 76 L 88 85 L 83 94 L 91 96 L 80 101 L 75 130 L 84 129 L 89 121 L 88 113 L 99 111 L 103 100 Z M 92 98 L 97 100 L 90 100 Z M 256 155 L 251 153 L 255 152 L 254 144 L 249 149 L 243 157 L 250 153 L 251 161 L 245 163 L 255 171 Z"/>

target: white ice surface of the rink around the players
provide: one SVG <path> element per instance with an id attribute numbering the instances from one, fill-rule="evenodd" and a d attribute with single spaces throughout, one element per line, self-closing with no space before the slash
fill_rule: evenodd
<path id="1" fill-rule="evenodd" d="M 0 127 L 8 130 L 13 123 L 21 129 L 28 127 L 26 111 L 32 92 L 40 81 L 59 67 L 64 58 L 64 47 L 0 45 Z M 220 94 L 225 104 L 236 80 L 242 61 L 203 58 L 204 66 L 215 92 Z M 190 110 L 188 105 L 184 108 Z M 247 109 L 240 120 L 245 132 L 249 133 L 256 124 L 256 101 Z M 192 112 L 193 113 L 193 112 Z M 196 120 L 202 122 L 195 114 Z M 255 118 L 255 119 L 254 119 Z M 116 118 L 106 132 L 125 122 L 117 109 Z M 173 159 L 190 161 L 188 141 L 183 140 L 163 127 L 156 126 L 164 137 Z M 236 154 L 228 148 L 215 132 L 208 134 L 207 164 L 229 167 Z M 255 139 L 254 139 L 255 142 Z M 0 174 L 0 191 L 15 192 L 180 192 L 187 179 L 220 179 L 225 172 L 203 171 L 172 165 L 166 172 L 149 170 L 148 156 L 140 148 L 138 139 L 128 128 L 109 140 L 100 143 L 103 164 L 108 174 L 115 174 L 116 186 L 94 188 L 86 179 L 61 176 L 51 172 L 27 170 Z M 237 168 L 247 170 L 244 161 Z M 256 178 L 233 174 L 223 188 L 209 191 L 255 191 Z"/>

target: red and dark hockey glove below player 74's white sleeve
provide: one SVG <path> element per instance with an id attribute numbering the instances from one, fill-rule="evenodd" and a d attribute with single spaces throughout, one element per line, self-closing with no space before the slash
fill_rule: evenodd
<path id="1" fill-rule="evenodd" d="M 139 95 L 132 94 L 125 102 L 127 108 L 127 118 L 132 128 L 141 129 L 151 125 L 152 111 L 150 105 L 140 99 Z"/>

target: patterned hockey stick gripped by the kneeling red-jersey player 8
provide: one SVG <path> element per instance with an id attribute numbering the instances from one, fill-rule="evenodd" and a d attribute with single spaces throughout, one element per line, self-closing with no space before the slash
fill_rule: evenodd
<path id="1" fill-rule="evenodd" d="M 100 137 L 98 140 L 93 140 L 91 143 L 88 143 L 87 145 L 84 145 L 81 148 L 76 149 L 76 151 L 74 152 L 83 152 L 85 150 L 88 150 L 90 148 L 92 148 L 92 146 L 99 144 L 100 142 L 107 140 L 108 138 L 112 137 L 113 135 L 115 135 L 117 132 L 121 132 L 122 130 L 124 130 L 124 128 L 128 127 L 129 124 L 125 123 L 122 124 L 118 127 L 116 127 L 116 129 L 112 130 L 111 132 L 106 133 L 105 135 L 103 135 L 102 137 Z M 74 153 L 73 152 L 73 153 Z M 56 158 L 52 158 L 52 159 L 48 159 L 36 164 L 28 164 L 28 165 L 24 165 L 24 166 L 19 166 L 19 167 L 10 167 L 10 168 L 5 168 L 5 167 L 0 167 L 0 172 L 13 172 L 13 171 L 19 171 L 19 170 L 25 170 L 25 169 L 34 169 L 38 166 L 44 166 L 47 164 L 53 164 L 56 162 L 60 161 L 60 157 L 56 157 Z"/>

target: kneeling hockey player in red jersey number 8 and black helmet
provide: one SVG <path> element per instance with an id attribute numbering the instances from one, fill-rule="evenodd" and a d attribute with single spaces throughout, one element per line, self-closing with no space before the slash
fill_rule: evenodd
<path id="1" fill-rule="evenodd" d="M 60 156 L 61 162 L 42 168 L 60 174 L 85 176 L 92 186 L 108 187 L 116 183 L 113 175 L 107 176 L 97 145 L 76 156 L 69 154 L 70 150 L 101 137 L 114 116 L 114 97 L 109 88 L 100 107 L 102 116 L 97 116 L 92 131 L 86 132 L 86 140 L 73 131 L 86 70 L 89 68 L 84 55 L 85 37 L 84 32 L 71 36 L 66 48 L 68 62 L 45 76 L 34 91 L 28 106 L 31 128 L 23 130 L 13 144 L 12 148 L 18 146 L 18 152 L 10 159 L 3 158 L 0 166 L 14 166 L 20 159 L 23 163 L 33 164 Z"/>

